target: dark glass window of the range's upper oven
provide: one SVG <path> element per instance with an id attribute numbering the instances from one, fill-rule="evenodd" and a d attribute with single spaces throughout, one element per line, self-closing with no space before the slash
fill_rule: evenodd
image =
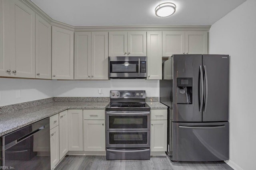
<path id="1" fill-rule="evenodd" d="M 147 129 L 147 115 L 110 115 L 110 129 Z"/>

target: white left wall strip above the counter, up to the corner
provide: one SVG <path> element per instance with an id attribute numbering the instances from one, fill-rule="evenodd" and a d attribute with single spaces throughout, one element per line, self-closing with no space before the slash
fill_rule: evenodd
<path id="1" fill-rule="evenodd" d="M 53 97 L 52 84 L 52 80 L 0 78 L 0 106 Z"/>

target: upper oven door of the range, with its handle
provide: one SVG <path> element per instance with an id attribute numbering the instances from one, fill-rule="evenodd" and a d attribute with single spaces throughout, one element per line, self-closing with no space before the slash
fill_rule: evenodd
<path id="1" fill-rule="evenodd" d="M 106 111 L 106 130 L 150 130 L 150 111 Z"/>

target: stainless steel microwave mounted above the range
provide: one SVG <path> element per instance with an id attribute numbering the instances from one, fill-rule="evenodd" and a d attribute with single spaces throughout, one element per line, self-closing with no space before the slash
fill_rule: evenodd
<path id="1" fill-rule="evenodd" d="M 146 78 L 147 57 L 108 57 L 109 78 Z"/>

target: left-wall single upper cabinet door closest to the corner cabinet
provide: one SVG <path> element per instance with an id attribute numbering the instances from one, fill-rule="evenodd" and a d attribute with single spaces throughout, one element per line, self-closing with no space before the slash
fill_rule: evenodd
<path id="1" fill-rule="evenodd" d="M 51 25 L 36 14 L 36 78 L 52 78 Z"/>

